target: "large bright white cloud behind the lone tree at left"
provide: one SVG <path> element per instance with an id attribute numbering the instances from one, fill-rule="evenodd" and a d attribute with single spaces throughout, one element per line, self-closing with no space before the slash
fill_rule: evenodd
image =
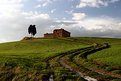
<path id="1" fill-rule="evenodd" d="M 20 40 L 28 36 L 28 26 L 37 25 L 38 34 L 44 31 L 53 21 L 48 14 L 40 12 L 23 12 L 24 0 L 0 0 L 0 42 Z"/>

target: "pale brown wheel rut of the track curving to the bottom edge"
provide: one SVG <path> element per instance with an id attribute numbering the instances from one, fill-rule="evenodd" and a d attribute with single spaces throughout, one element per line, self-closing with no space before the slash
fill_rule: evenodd
<path id="1" fill-rule="evenodd" d="M 90 77 L 90 76 L 86 76 L 85 73 L 83 73 L 83 72 L 80 70 L 80 68 L 71 66 L 71 65 L 69 64 L 69 60 L 68 60 L 68 61 L 67 61 L 67 59 L 65 60 L 65 58 L 67 58 L 67 57 L 69 57 L 69 56 L 73 57 L 73 56 L 78 55 L 78 54 L 80 54 L 80 53 L 82 53 L 82 52 L 85 52 L 86 50 L 90 50 L 91 48 L 92 48 L 92 47 L 87 47 L 87 48 L 78 50 L 78 51 L 76 51 L 76 52 L 74 52 L 74 53 L 72 53 L 72 54 L 64 55 L 63 57 L 61 57 L 61 58 L 59 59 L 59 63 L 60 63 L 63 67 L 68 68 L 70 71 L 74 71 L 74 72 L 78 73 L 78 74 L 80 75 L 80 77 L 84 78 L 84 79 L 87 80 L 87 81 L 98 81 L 98 80 L 95 79 L 95 78 L 92 78 L 92 77 Z M 68 58 L 68 59 L 70 59 L 70 61 L 72 60 L 71 58 Z"/>

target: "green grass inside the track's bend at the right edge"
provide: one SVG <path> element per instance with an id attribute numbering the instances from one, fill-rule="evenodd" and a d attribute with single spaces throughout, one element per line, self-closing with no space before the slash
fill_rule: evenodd
<path id="1" fill-rule="evenodd" d="M 98 51 L 88 56 L 88 59 L 92 59 L 99 63 L 107 65 L 121 66 L 121 39 L 110 38 L 87 38 L 90 41 L 98 43 L 109 43 L 111 48 Z"/>

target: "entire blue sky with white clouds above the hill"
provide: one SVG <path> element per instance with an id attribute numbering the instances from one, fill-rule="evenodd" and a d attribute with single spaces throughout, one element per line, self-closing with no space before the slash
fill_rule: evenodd
<path id="1" fill-rule="evenodd" d="M 74 37 L 121 38 L 121 0 L 0 0 L 0 43 L 64 28 Z"/>

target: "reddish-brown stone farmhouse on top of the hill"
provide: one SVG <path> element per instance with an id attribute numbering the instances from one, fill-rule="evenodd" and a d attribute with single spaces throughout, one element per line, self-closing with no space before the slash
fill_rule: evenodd
<path id="1" fill-rule="evenodd" d="M 70 37 L 70 32 L 64 30 L 64 29 L 55 29 L 53 30 L 53 33 L 45 33 L 45 38 L 58 38 L 58 37 Z"/>

